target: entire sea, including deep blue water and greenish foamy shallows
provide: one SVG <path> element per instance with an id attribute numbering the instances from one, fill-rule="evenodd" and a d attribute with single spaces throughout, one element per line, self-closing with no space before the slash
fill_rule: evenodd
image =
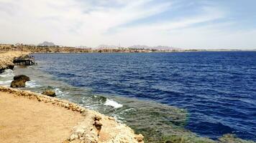
<path id="1" fill-rule="evenodd" d="M 256 52 L 32 54 L 24 89 L 52 89 L 60 99 L 115 117 L 153 141 L 188 130 L 217 139 L 256 141 Z"/>

